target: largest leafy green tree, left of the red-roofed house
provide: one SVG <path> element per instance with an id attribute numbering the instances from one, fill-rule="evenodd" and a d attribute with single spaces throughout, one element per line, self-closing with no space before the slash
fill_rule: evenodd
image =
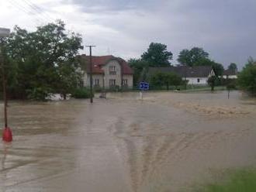
<path id="1" fill-rule="evenodd" d="M 81 48 L 81 36 L 67 33 L 64 22 L 40 26 L 35 32 L 16 26 L 6 46 L 9 58 L 17 66 L 12 91 L 35 99 L 50 93 L 60 93 L 65 98 L 81 81 L 75 60 Z"/>

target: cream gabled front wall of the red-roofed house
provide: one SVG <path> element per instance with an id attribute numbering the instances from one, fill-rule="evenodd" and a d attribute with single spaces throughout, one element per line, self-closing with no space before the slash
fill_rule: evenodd
<path id="1" fill-rule="evenodd" d="M 116 74 L 109 74 L 110 70 L 109 67 L 114 66 L 116 67 Z M 105 66 L 102 67 L 102 70 L 105 72 L 105 87 L 109 87 L 109 80 L 115 79 L 116 85 L 121 87 L 121 65 L 117 60 L 111 60 L 109 63 L 106 63 Z"/>

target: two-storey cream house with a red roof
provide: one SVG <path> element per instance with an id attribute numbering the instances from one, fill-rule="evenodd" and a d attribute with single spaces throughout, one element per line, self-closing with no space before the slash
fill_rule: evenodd
<path id="1" fill-rule="evenodd" d="M 90 86 L 90 57 L 78 56 L 81 61 L 84 86 Z M 120 57 L 92 56 L 92 84 L 94 87 L 133 87 L 133 70 Z"/>

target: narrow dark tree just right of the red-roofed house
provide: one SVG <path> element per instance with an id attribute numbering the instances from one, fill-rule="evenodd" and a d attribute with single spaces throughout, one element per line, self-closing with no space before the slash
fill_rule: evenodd
<path id="1" fill-rule="evenodd" d="M 133 69 L 133 85 L 137 86 L 140 81 L 145 81 L 145 71 L 147 70 L 149 64 L 145 60 L 140 59 L 130 59 L 128 64 Z"/>

